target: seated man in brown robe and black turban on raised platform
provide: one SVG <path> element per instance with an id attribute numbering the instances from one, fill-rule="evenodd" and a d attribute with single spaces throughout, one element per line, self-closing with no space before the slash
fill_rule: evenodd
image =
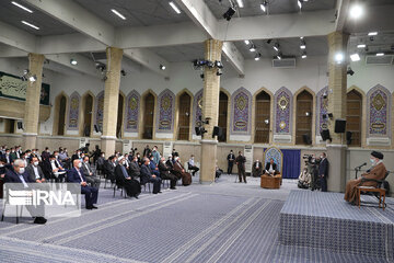
<path id="1" fill-rule="evenodd" d="M 385 176 L 386 169 L 383 163 L 383 153 L 380 151 L 372 151 L 370 161 L 371 168 L 366 173 L 361 174 L 361 178 L 350 180 L 346 183 L 345 199 L 352 205 L 358 205 L 357 186 L 376 186 L 376 182 L 366 181 L 363 179 L 382 180 Z"/>

